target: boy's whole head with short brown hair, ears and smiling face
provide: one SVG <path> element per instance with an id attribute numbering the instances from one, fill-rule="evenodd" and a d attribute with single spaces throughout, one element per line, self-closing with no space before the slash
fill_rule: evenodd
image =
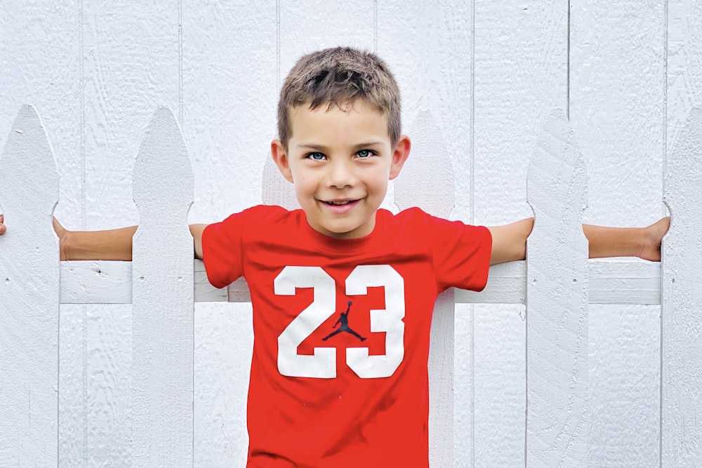
<path id="1" fill-rule="evenodd" d="M 293 67 L 271 156 L 312 229 L 337 239 L 373 231 L 388 180 L 411 147 L 399 134 L 399 112 L 397 83 L 376 55 L 333 48 Z"/>

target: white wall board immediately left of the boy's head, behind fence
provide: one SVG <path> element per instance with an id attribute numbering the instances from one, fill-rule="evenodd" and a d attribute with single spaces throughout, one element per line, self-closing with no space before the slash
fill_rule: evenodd
<path id="1" fill-rule="evenodd" d="M 190 222 L 220 221 L 262 201 L 261 172 L 276 133 L 276 4 L 180 2 L 180 124 L 195 180 Z M 198 281 L 208 284 L 204 276 Z M 211 290 L 227 295 L 226 289 Z M 246 464 L 252 346 L 251 304 L 196 307 L 195 466 Z"/>

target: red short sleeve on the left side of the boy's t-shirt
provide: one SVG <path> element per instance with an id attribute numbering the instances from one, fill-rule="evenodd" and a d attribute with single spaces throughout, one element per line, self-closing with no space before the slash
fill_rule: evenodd
<path id="1" fill-rule="evenodd" d="M 241 240 L 245 220 L 246 211 L 234 213 L 202 232 L 202 261 L 208 281 L 216 288 L 224 288 L 244 274 Z"/>

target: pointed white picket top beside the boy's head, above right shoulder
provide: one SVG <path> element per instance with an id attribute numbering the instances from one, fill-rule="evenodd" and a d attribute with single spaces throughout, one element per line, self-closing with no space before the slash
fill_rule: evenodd
<path id="1" fill-rule="evenodd" d="M 419 206 L 449 218 L 456 187 L 449 152 L 434 117 L 421 111 L 411 126 L 412 151 L 395 180 L 395 204 L 401 210 Z"/>

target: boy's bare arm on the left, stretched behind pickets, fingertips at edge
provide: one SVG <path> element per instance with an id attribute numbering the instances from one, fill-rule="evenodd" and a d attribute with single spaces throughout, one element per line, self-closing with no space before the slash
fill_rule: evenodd
<path id="1" fill-rule="evenodd" d="M 5 234 L 4 215 L 0 215 L 0 235 Z M 207 225 L 190 225 L 195 258 L 202 258 L 202 232 Z M 61 260 L 131 260 L 132 236 L 136 226 L 105 231 L 69 231 L 56 218 L 53 229 L 59 239 Z"/>

